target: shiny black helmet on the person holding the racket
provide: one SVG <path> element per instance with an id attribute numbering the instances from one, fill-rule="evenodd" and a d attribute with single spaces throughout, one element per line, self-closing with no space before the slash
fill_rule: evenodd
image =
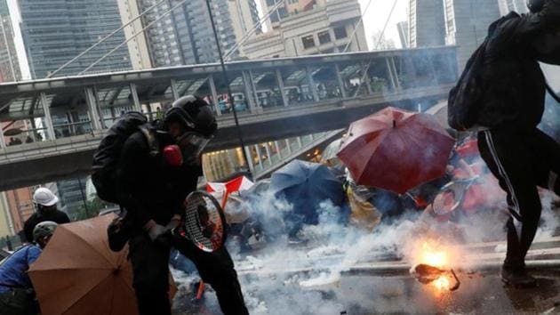
<path id="1" fill-rule="evenodd" d="M 183 96 L 173 101 L 172 108 L 165 113 L 164 124 L 173 122 L 183 125 L 188 131 L 201 133 L 205 137 L 212 136 L 218 129 L 216 117 L 208 103 L 194 95 Z"/>

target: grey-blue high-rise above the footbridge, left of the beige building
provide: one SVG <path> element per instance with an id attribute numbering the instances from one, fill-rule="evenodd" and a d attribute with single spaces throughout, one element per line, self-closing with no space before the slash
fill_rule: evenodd
<path id="1" fill-rule="evenodd" d="M 140 9 L 144 11 L 157 2 L 140 0 Z M 172 13 L 157 20 L 175 6 L 178 7 Z M 211 6 L 220 48 L 224 53 L 231 50 L 259 21 L 254 0 L 212 0 Z M 190 0 L 185 4 L 180 4 L 180 0 L 165 1 L 144 16 L 144 26 L 152 22 L 154 24 L 148 28 L 146 36 L 155 67 L 219 61 L 205 0 Z"/>

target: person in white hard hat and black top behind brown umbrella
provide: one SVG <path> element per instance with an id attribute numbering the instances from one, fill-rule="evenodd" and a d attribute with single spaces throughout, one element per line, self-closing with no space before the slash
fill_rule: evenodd
<path id="1" fill-rule="evenodd" d="M 32 214 L 23 224 L 25 238 L 29 243 L 33 242 L 33 229 L 40 222 L 52 221 L 58 224 L 68 223 L 68 214 L 57 209 L 59 198 L 51 190 L 41 187 L 33 193 L 33 202 L 36 205 L 36 213 Z"/>

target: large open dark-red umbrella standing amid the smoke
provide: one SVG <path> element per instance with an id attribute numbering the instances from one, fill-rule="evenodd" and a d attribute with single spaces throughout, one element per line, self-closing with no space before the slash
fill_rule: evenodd
<path id="1" fill-rule="evenodd" d="M 389 107 L 350 125 L 338 157 L 357 184 L 402 194 L 443 176 L 453 143 L 435 117 Z"/>

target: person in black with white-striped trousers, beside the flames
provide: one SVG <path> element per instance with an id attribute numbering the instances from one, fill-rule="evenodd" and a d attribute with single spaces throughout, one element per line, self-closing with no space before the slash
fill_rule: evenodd
<path id="1" fill-rule="evenodd" d="M 524 258 L 540 220 L 537 186 L 560 193 L 560 145 L 537 129 L 546 80 L 539 61 L 560 64 L 560 0 L 529 0 L 492 24 L 484 51 L 484 99 L 477 124 L 480 153 L 508 193 L 508 252 L 501 278 L 536 285 Z"/>

